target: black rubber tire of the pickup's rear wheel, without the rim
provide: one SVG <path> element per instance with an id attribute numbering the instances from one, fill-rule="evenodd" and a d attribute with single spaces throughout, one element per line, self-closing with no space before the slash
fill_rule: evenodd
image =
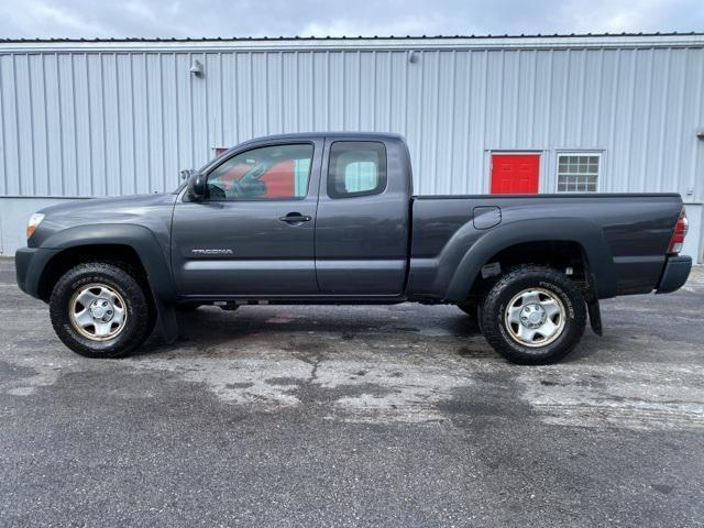
<path id="1" fill-rule="evenodd" d="M 540 334 L 530 345 L 521 343 L 521 336 L 514 337 L 518 326 L 508 329 L 506 324 L 508 304 L 531 288 L 546 292 L 546 298 L 559 300 L 563 308 L 556 315 L 557 321 L 563 319 L 562 329 L 544 345 L 539 343 L 544 339 Z M 522 365 L 546 365 L 560 361 L 580 342 L 586 324 L 586 307 L 579 288 L 564 274 L 550 267 L 521 265 L 509 270 L 488 289 L 479 317 L 484 338 L 505 359 Z"/>

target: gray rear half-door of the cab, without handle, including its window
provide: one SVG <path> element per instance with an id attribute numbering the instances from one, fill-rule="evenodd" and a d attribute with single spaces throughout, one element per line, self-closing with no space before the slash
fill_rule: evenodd
<path id="1" fill-rule="evenodd" d="M 322 165 L 316 221 L 321 293 L 403 295 L 410 210 L 405 144 L 328 138 Z"/>

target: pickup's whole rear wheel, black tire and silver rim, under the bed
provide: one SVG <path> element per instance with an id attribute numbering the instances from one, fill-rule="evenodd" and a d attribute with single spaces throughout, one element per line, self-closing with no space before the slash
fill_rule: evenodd
<path id="1" fill-rule="evenodd" d="M 537 265 L 512 268 L 486 293 L 480 310 L 486 341 L 513 363 L 554 363 L 582 339 L 586 308 L 562 273 Z"/>

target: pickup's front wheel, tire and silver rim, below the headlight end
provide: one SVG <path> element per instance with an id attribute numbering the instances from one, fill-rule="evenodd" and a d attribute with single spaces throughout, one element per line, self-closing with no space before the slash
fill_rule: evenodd
<path id="1" fill-rule="evenodd" d="M 66 272 L 50 298 L 58 339 L 87 358 L 123 358 L 154 328 L 155 312 L 138 279 L 116 264 L 90 262 Z"/>

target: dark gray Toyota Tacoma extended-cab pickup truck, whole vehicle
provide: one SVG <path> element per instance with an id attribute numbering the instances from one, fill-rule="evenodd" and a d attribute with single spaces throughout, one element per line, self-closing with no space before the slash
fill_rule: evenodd
<path id="1" fill-rule="evenodd" d="M 453 304 L 515 363 L 560 360 L 598 299 L 669 293 L 692 266 L 676 194 L 414 196 L 403 138 L 252 140 L 169 194 L 48 207 L 16 276 L 90 358 L 201 305 Z"/>

